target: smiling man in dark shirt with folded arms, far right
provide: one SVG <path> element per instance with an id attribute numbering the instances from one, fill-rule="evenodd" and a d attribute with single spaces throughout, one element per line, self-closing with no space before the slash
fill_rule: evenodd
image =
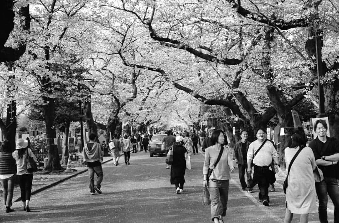
<path id="1" fill-rule="evenodd" d="M 321 223 L 327 221 L 327 197 L 334 204 L 334 222 L 339 222 L 339 187 L 338 187 L 338 165 L 339 140 L 327 137 L 327 123 L 319 119 L 314 123 L 314 131 L 318 135 L 308 146 L 313 150 L 314 157 L 319 169 L 322 170 L 324 179 L 316 183 L 316 191 L 319 201 L 318 214 Z M 328 196 L 327 196 L 328 194 Z"/>

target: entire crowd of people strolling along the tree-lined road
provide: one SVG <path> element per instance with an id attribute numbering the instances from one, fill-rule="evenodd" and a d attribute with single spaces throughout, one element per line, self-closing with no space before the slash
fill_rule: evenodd
<path id="1" fill-rule="evenodd" d="M 339 141 L 334 137 L 327 137 L 327 124 L 324 120 L 314 123 L 317 137 L 308 145 L 303 128 L 296 128 L 287 138 L 287 147 L 284 149 L 287 177 L 284 182 L 285 218 L 284 223 L 292 222 L 294 214 L 300 214 L 300 222 L 308 222 L 308 214 L 318 212 L 321 223 L 327 223 L 327 195 L 334 204 L 334 222 L 339 222 Z M 119 165 L 120 153 L 124 154 L 124 161 L 129 165 L 130 152 L 145 151 L 149 139 L 148 134 L 124 134 L 118 139 L 116 134 L 108 144 L 114 158 L 115 165 Z M 166 132 L 162 142 L 167 155 L 172 150 L 173 162 L 171 167 L 170 183 L 175 185 L 176 194 L 184 190 L 185 171 L 187 162 L 190 164 L 191 155 L 198 154 L 198 144 L 204 154 L 203 186 L 208 188 L 211 198 L 211 220 L 223 223 L 226 216 L 228 191 L 231 173 L 234 165 L 238 164 L 238 175 L 241 190 L 253 192 L 258 184 L 259 201 L 270 205 L 268 189 L 275 182 L 275 173 L 278 171 L 278 152 L 273 141 L 267 139 L 266 129 L 256 131 L 256 140 L 249 142 L 248 133 L 241 131 L 241 139 L 235 143 L 234 153 L 228 145 L 224 132 L 220 129 L 208 129 L 207 134 L 202 131 L 196 134 L 183 131 L 176 134 L 171 130 Z M 103 180 L 103 145 L 96 142 L 97 135 L 90 134 L 89 142 L 82 150 L 82 158 L 88 168 L 90 194 L 101 194 Z M 103 142 L 104 143 L 104 142 Z M 3 201 L 6 212 L 12 212 L 12 198 L 16 175 L 19 179 L 23 210 L 31 211 L 33 172 L 27 168 L 28 158 L 35 162 L 36 157 L 29 148 L 27 140 L 18 139 L 16 149 L 12 153 L 8 142 L 5 141 L 0 150 L 0 180 L 3 187 Z M 253 173 L 252 173 L 253 171 Z M 97 175 L 94 181 L 94 174 Z M 246 177 L 246 179 L 245 179 Z M 286 183 L 286 184 L 285 184 Z M 274 187 L 273 187 L 274 188 Z M 318 198 L 318 205 L 317 205 Z"/>

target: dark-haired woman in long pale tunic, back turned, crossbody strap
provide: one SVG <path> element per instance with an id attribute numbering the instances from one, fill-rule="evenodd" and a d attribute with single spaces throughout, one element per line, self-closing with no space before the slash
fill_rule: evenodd
<path id="1" fill-rule="evenodd" d="M 313 170 L 316 168 L 316 160 L 312 149 L 306 147 L 307 138 L 303 128 L 294 129 L 288 147 L 285 149 L 286 169 L 291 160 L 301 149 L 291 165 L 287 179 L 286 189 L 286 213 L 284 223 L 291 223 L 293 214 L 300 215 L 300 223 L 308 222 L 309 213 L 317 213 L 316 186 Z"/>

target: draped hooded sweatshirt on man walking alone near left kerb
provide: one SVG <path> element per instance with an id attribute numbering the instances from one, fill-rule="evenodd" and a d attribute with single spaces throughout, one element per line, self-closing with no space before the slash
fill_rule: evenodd
<path id="1" fill-rule="evenodd" d="M 91 143 L 93 143 L 92 148 L 88 146 Z M 86 143 L 82 150 L 82 158 L 87 161 L 88 167 L 101 165 L 100 161 L 103 160 L 103 151 L 100 144 L 97 142 Z"/>

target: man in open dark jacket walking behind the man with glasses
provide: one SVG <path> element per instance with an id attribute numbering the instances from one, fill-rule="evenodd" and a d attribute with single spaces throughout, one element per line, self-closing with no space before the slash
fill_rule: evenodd
<path id="1" fill-rule="evenodd" d="M 247 150 L 251 142 L 247 140 L 248 133 L 245 130 L 241 131 L 240 137 L 241 140 L 235 144 L 234 158 L 238 161 L 241 190 L 248 190 L 248 192 L 251 193 L 253 192 L 250 187 L 252 183 L 252 176 L 251 173 L 247 172 L 247 168 L 251 168 L 251 166 L 247 166 Z M 247 183 L 245 182 L 245 173 L 247 174 Z"/>

